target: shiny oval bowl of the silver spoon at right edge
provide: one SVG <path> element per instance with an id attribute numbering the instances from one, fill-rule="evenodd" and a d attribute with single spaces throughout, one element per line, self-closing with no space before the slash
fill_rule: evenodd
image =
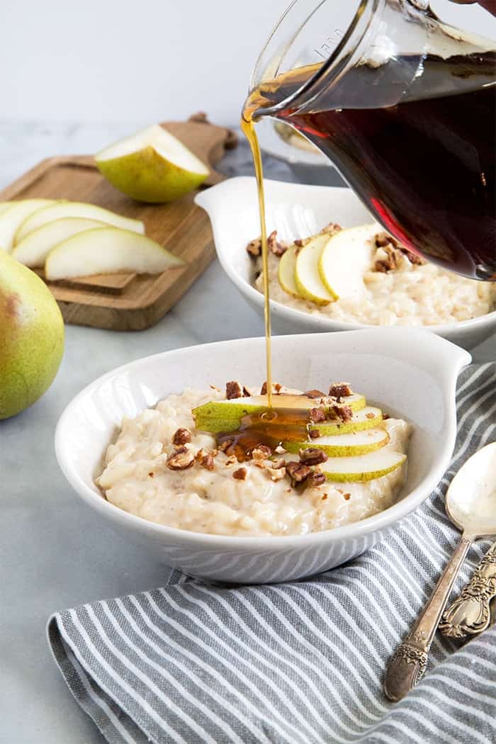
<path id="1" fill-rule="evenodd" d="M 467 539 L 496 535 L 496 442 L 468 458 L 454 476 L 446 513 Z"/>

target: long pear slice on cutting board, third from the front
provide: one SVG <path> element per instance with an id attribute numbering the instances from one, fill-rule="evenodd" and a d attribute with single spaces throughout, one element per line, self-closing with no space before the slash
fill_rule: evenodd
<path id="1" fill-rule="evenodd" d="M 111 212 L 108 209 L 97 207 L 95 204 L 87 204 L 86 202 L 62 202 L 40 209 L 28 217 L 28 219 L 25 219 L 19 225 L 16 232 L 15 243 L 20 243 L 33 230 L 41 228 L 48 222 L 54 222 L 55 219 L 62 219 L 62 217 L 96 219 L 98 222 L 105 222 L 106 225 L 112 225 L 113 227 L 130 230 L 135 233 L 144 234 L 145 231 L 144 224 L 139 219 L 122 217 L 120 214 L 115 214 L 115 212 Z"/>

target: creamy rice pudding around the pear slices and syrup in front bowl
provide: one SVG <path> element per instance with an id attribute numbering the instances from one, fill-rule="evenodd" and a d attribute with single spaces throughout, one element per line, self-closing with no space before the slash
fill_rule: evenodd
<path id="1" fill-rule="evenodd" d="M 232 396 L 232 385 L 237 383 L 230 384 Z M 229 391 L 228 385 L 228 395 Z M 256 399 L 239 399 L 241 403 L 243 400 Z M 273 400 L 277 406 L 277 395 Z M 342 441 L 353 446 L 359 432 L 355 432 L 355 438 L 352 431 L 345 432 L 350 426 L 371 426 L 376 423 L 375 412 L 381 411 L 364 408 L 365 402 L 358 396 L 350 397 L 352 405 L 361 406 L 357 411 L 343 404 L 347 398 L 340 401 L 325 397 L 315 399 L 315 408 L 309 408 L 309 420 L 321 420 L 323 414 L 312 411 L 327 411 L 326 405 L 336 400 L 333 408 L 339 408 L 339 417 L 327 423 L 338 432 L 343 430 Z M 316 456 L 315 452 L 321 452 L 318 443 L 324 441 L 317 438 L 315 447 L 310 441 L 308 449 L 300 450 L 299 455 L 285 451 L 283 446 L 272 450 L 260 446 L 238 461 L 229 448 L 221 451 L 219 435 L 198 429 L 193 417 L 192 409 L 221 401 L 237 403 L 226 401 L 225 394 L 217 389 L 187 389 L 181 395 L 170 395 L 135 419 L 124 418 L 97 478 L 107 500 L 169 527 L 216 535 L 263 536 L 300 535 L 346 525 L 386 509 L 398 496 L 405 481 L 406 458 L 401 458 L 402 464 L 392 472 L 368 481 L 328 481 L 322 472 L 329 463 L 351 467 L 353 458 Z M 326 423 L 325 418 L 323 421 Z M 315 423 L 311 436 L 321 433 L 315 429 L 318 426 L 323 424 Z M 388 418 L 380 420 L 378 426 L 369 429 L 370 434 L 361 432 L 365 446 L 375 446 L 373 441 L 382 432 L 386 437 L 380 449 L 384 458 L 407 452 L 408 423 Z M 326 439 L 336 440 L 332 436 Z"/>

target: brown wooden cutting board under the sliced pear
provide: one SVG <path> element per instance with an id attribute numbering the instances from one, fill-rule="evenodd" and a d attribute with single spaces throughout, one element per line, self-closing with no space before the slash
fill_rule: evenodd
<path id="1" fill-rule="evenodd" d="M 229 129 L 207 121 L 162 124 L 210 165 L 202 187 L 222 181 L 213 169 L 225 150 L 236 147 Z M 100 175 L 89 155 L 48 158 L 0 192 L 7 199 L 70 199 L 90 202 L 126 217 L 141 219 L 146 235 L 185 264 L 158 275 L 106 274 L 47 282 L 66 323 L 112 330 L 142 330 L 157 323 L 204 271 L 215 255 L 210 220 L 193 199 L 198 191 L 165 205 L 135 202 Z M 42 269 L 36 272 L 44 279 Z"/>

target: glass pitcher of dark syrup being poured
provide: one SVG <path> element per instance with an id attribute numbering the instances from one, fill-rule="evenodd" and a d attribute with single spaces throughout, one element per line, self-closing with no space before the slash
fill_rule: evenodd
<path id="1" fill-rule="evenodd" d="M 495 280 L 495 49 L 422 0 L 293 0 L 245 111 L 317 145 L 403 245 Z"/>

